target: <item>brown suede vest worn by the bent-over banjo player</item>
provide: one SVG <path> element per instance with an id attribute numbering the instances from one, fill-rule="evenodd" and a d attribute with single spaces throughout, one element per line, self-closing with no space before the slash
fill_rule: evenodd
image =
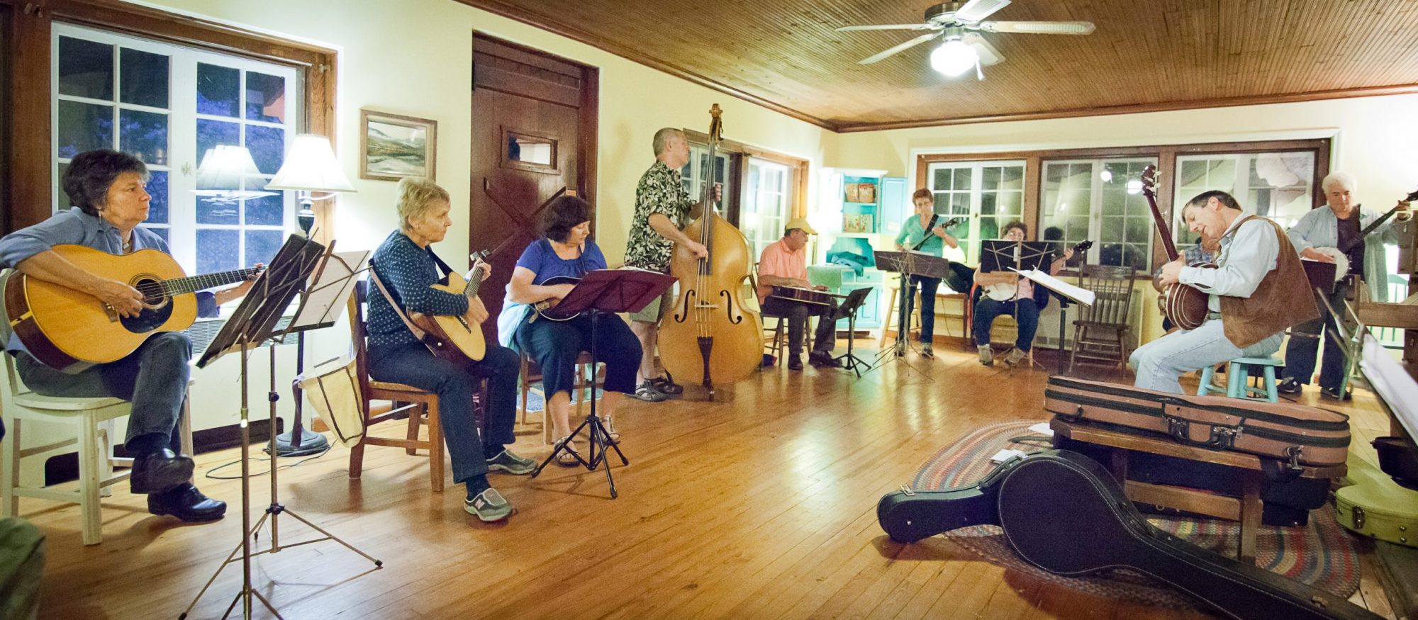
<path id="1" fill-rule="evenodd" d="M 1275 258 L 1275 269 L 1261 279 L 1261 285 L 1249 297 L 1221 296 L 1221 316 L 1225 318 L 1227 340 L 1238 348 L 1246 348 L 1271 335 L 1309 320 L 1319 318 L 1310 280 L 1305 277 L 1300 255 L 1290 245 L 1279 224 L 1271 219 L 1246 215 L 1241 221 L 1259 219 L 1275 228 L 1280 251 Z M 1239 228 L 1239 226 L 1238 226 Z"/>

